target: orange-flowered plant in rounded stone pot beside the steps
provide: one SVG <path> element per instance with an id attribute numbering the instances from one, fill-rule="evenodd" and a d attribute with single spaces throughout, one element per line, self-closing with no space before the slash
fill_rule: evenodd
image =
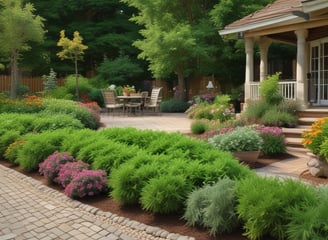
<path id="1" fill-rule="evenodd" d="M 302 137 L 303 146 L 312 152 L 307 163 L 309 172 L 316 177 L 328 177 L 328 117 L 315 121 Z"/>

